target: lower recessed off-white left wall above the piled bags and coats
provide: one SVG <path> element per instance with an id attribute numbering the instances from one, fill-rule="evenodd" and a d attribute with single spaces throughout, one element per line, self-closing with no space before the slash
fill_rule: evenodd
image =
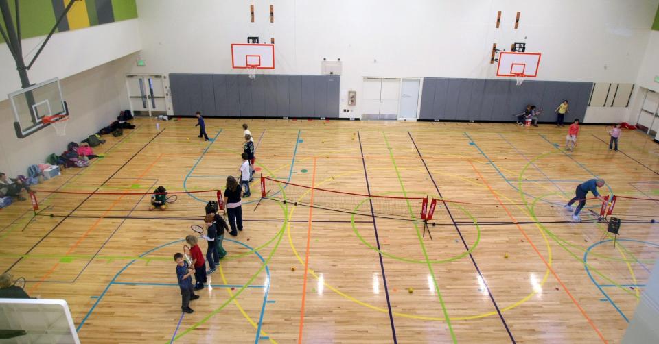
<path id="1" fill-rule="evenodd" d="M 27 175 L 30 164 L 43 163 L 49 154 L 65 151 L 67 143 L 84 140 L 115 121 L 119 110 L 126 108 L 125 75 L 136 58 L 132 54 L 60 80 L 71 113 L 67 136 L 46 127 L 16 138 L 11 103 L 0 101 L 0 171 L 12 177 Z"/>

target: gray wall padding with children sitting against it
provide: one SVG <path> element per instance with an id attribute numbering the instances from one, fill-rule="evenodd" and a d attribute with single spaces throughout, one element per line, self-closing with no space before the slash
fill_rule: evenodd
<path id="1" fill-rule="evenodd" d="M 592 82 L 454 79 L 425 77 L 420 119 L 442 121 L 514 121 L 513 114 L 527 104 L 544 110 L 541 122 L 554 122 L 554 110 L 564 99 L 570 102 L 565 122 L 583 121 Z"/>

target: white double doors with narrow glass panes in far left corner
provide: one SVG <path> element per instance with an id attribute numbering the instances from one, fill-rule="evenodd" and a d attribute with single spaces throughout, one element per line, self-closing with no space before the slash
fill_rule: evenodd
<path id="1" fill-rule="evenodd" d="M 154 112 L 167 112 L 161 75 L 126 75 L 126 88 L 132 112 L 147 112 L 149 116 Z"/>

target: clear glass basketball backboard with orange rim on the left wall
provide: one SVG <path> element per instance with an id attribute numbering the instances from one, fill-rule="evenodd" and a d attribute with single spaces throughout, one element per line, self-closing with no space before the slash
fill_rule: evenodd
<path id="1" fill-rule="evenodd" d="M 8 95 L 14 110 L 16 137 L 24 138 L 47 127 L 44 116 L 61 114 L 68 116 L 67 105 L 62 97 L 59 79 L 17 90 Z"/>

